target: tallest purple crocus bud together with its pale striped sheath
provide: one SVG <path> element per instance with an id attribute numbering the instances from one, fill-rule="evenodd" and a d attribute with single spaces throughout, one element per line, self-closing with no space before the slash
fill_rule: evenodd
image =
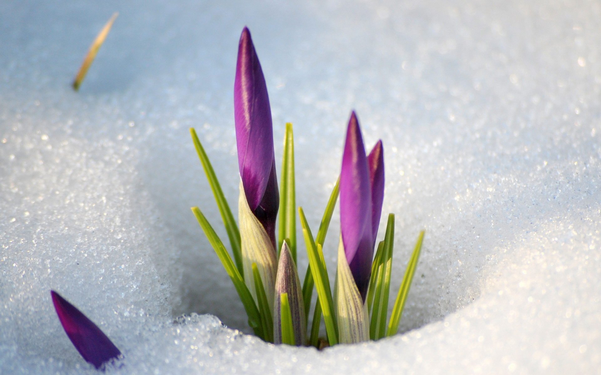
<path id="1" fill-rule="evenodd" d="M 275 175 L 269 96 L 248 28 L 242 30 L 238 45 L 234 115 L 238 166 L 242 178 L 238 217 L 245 283 L 257 301 L 252 275 L 252 263 L 257 263 L 267 301 L 273 310 L 278 267 L 275 220 L 279 191 Z"/>

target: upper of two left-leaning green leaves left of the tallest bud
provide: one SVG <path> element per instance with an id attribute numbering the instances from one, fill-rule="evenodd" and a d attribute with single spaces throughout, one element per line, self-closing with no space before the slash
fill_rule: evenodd
<path id="1" fill-rule="evenodd" d="M 190 128 L 190 134 L 192 135 L 192 141 L 194 142 L 198 158 L 200 158 L 200 162 L 203 164 L 204 174 L 207 175 L 207 180 L 213 191 L 213 196 L 215 196 L 215 202 L 217 202 L 221 219 L 224 222 L 225 231 L 230 239 L 231 251 L 234 254 L 236 267 L 238 268 L 240 275 L 244 275 L 242 251 L 240 250 L 240 230 L 238 229 L 236 220 L 234 220 L 234 215 L 231 214 L 230 205 L 228 205 L 227 200 L 225 200 L 224 192 L 221 190 L 221 185 L 219 185 L 215 170 L 213 170 L 209 157 L 207 156 L 207 153 L 204 152 L 203 145 L 200 143 L 194 128 Z"/>

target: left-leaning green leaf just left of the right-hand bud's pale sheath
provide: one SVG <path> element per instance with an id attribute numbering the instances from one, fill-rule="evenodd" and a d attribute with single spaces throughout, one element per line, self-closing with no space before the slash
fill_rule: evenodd
<path id="1" fill-rule="evenodd" d="M 313 274 L 317 296 L 319 297 L 320 305 L 323 310 L 323 320 L 326 323 L 328 341 L 330 345 L 335 345 L 338 343 L 338 332 L 333 310 L 334 303 L 332 302 L 332 289 L 328 278 L 328 270 L 326 269 L 325 262 L 323 262 L 323 252 L 321 251 L 321 246 L 315 244 L 302 207 L 299 207 L 299 216 L 301 217 L 301 225 L 303 236 L 305 238 L 305 245 L 307 246 L 311 274 Z"/>

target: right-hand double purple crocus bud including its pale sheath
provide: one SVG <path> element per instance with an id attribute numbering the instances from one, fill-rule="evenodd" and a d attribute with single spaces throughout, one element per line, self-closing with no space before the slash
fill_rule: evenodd
<path id="1" fill-rule="evenodd" d="M 367 341 L 365 297 L 384 197 L 384 158 L 379 141 L 365 155 L 355 112 L 350 115 L 340 172 L 340 229 L 335 299 L 341 343 Z"/>

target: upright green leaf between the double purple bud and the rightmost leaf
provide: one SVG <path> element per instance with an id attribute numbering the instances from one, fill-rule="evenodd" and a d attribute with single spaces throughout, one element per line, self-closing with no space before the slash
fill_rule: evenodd
<path id="1" fill-rule="evenodd" d="M 386 334 L 386 315 L 388 314 L 388 295 L 392 273 L 392 250 L 394 246 L 394 215 L 388 215 L 386 236 L 384 238 L 382 260 L 380 262 L 373 311 L 371 314 L 370 337 L 379 340 Z"/>

